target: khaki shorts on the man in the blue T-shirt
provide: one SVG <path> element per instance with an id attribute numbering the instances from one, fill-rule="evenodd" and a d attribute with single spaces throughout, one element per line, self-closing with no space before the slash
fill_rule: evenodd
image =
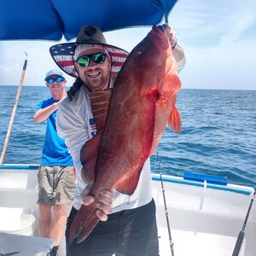
<path id="1" fill-rule="evenodd" d="M 63 205 L 73 202 L 76 189 L 73 166 L 40 166 L 38 203 Z"/>

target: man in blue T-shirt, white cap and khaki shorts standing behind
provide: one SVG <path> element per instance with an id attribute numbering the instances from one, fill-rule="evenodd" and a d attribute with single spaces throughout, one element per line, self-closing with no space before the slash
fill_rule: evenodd
<path id="1" fill-rule="evenodd" d="M 41 236 L 55 240 L 49 256 L 55 256 L 66 230 L 67 204 L 73 202 L 76 188 L 73 159 L 65 141 L 58 136 L 55 125 L 56 112 L 67 96 L 67 80 L 59 70 L 50 70 L 45 77 L 51 97 L 39 102 L 34 115 L 36 123 L 47 120 L 41 166 L 38 170 L 38 207 Z"/>

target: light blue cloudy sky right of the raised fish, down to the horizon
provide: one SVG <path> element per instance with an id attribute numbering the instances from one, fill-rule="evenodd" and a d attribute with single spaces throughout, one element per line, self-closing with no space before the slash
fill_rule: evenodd
<path id="1" fill-rule="evenodd" d="M 187 56 L 183 88 L 256 89 L 254 2 L 177 3 L 169 20 Z"/>

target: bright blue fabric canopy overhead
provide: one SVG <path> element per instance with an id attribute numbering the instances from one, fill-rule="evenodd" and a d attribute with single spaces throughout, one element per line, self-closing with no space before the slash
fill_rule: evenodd
<path id="1" fill-rule="evenodd" d="M 0 0 L 0 40 L 67 40 L 83 25 L 103 32 L 159 24 L 177 0 Z"/>

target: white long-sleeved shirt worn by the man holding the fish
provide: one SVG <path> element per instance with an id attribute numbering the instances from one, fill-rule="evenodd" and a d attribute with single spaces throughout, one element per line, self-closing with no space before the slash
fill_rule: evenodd
<path id="1" fill-rule="evenodd" d="M 177 63 L 178 72 L 185 65 L 185 58 Z M 114 77 L 111 78 L 110 88 L 113 88 Z M 83 168 L 80 160 L 80 150 L 84 143 L 93 137 L 96 133 L 96 125 L 92 122 L 93 115 L 90 108 L 90 99 L 87 95 L 88 90 L 84 85 L 74 96 L 73 101 L 66 98 L 61 102 L 57 111 L 56 127 L 60 137 L 65 139 L 67 148 L 73 157 L 73 163 L 76 168 L 77 189 L 74 193 L 74 204 L 77 210 L 82 205 L 80 194 L 85 189 L 86 183 L 81 178 Z M 119 212 L 126 209 L 142 207 L 152 200 L 151 193 L 151 172 L 150 160 L 146 160 L 141 172 L 137 189 L 134 193 L 124 195 L 119 191 L 113 191 L 113 210 Z"/>

